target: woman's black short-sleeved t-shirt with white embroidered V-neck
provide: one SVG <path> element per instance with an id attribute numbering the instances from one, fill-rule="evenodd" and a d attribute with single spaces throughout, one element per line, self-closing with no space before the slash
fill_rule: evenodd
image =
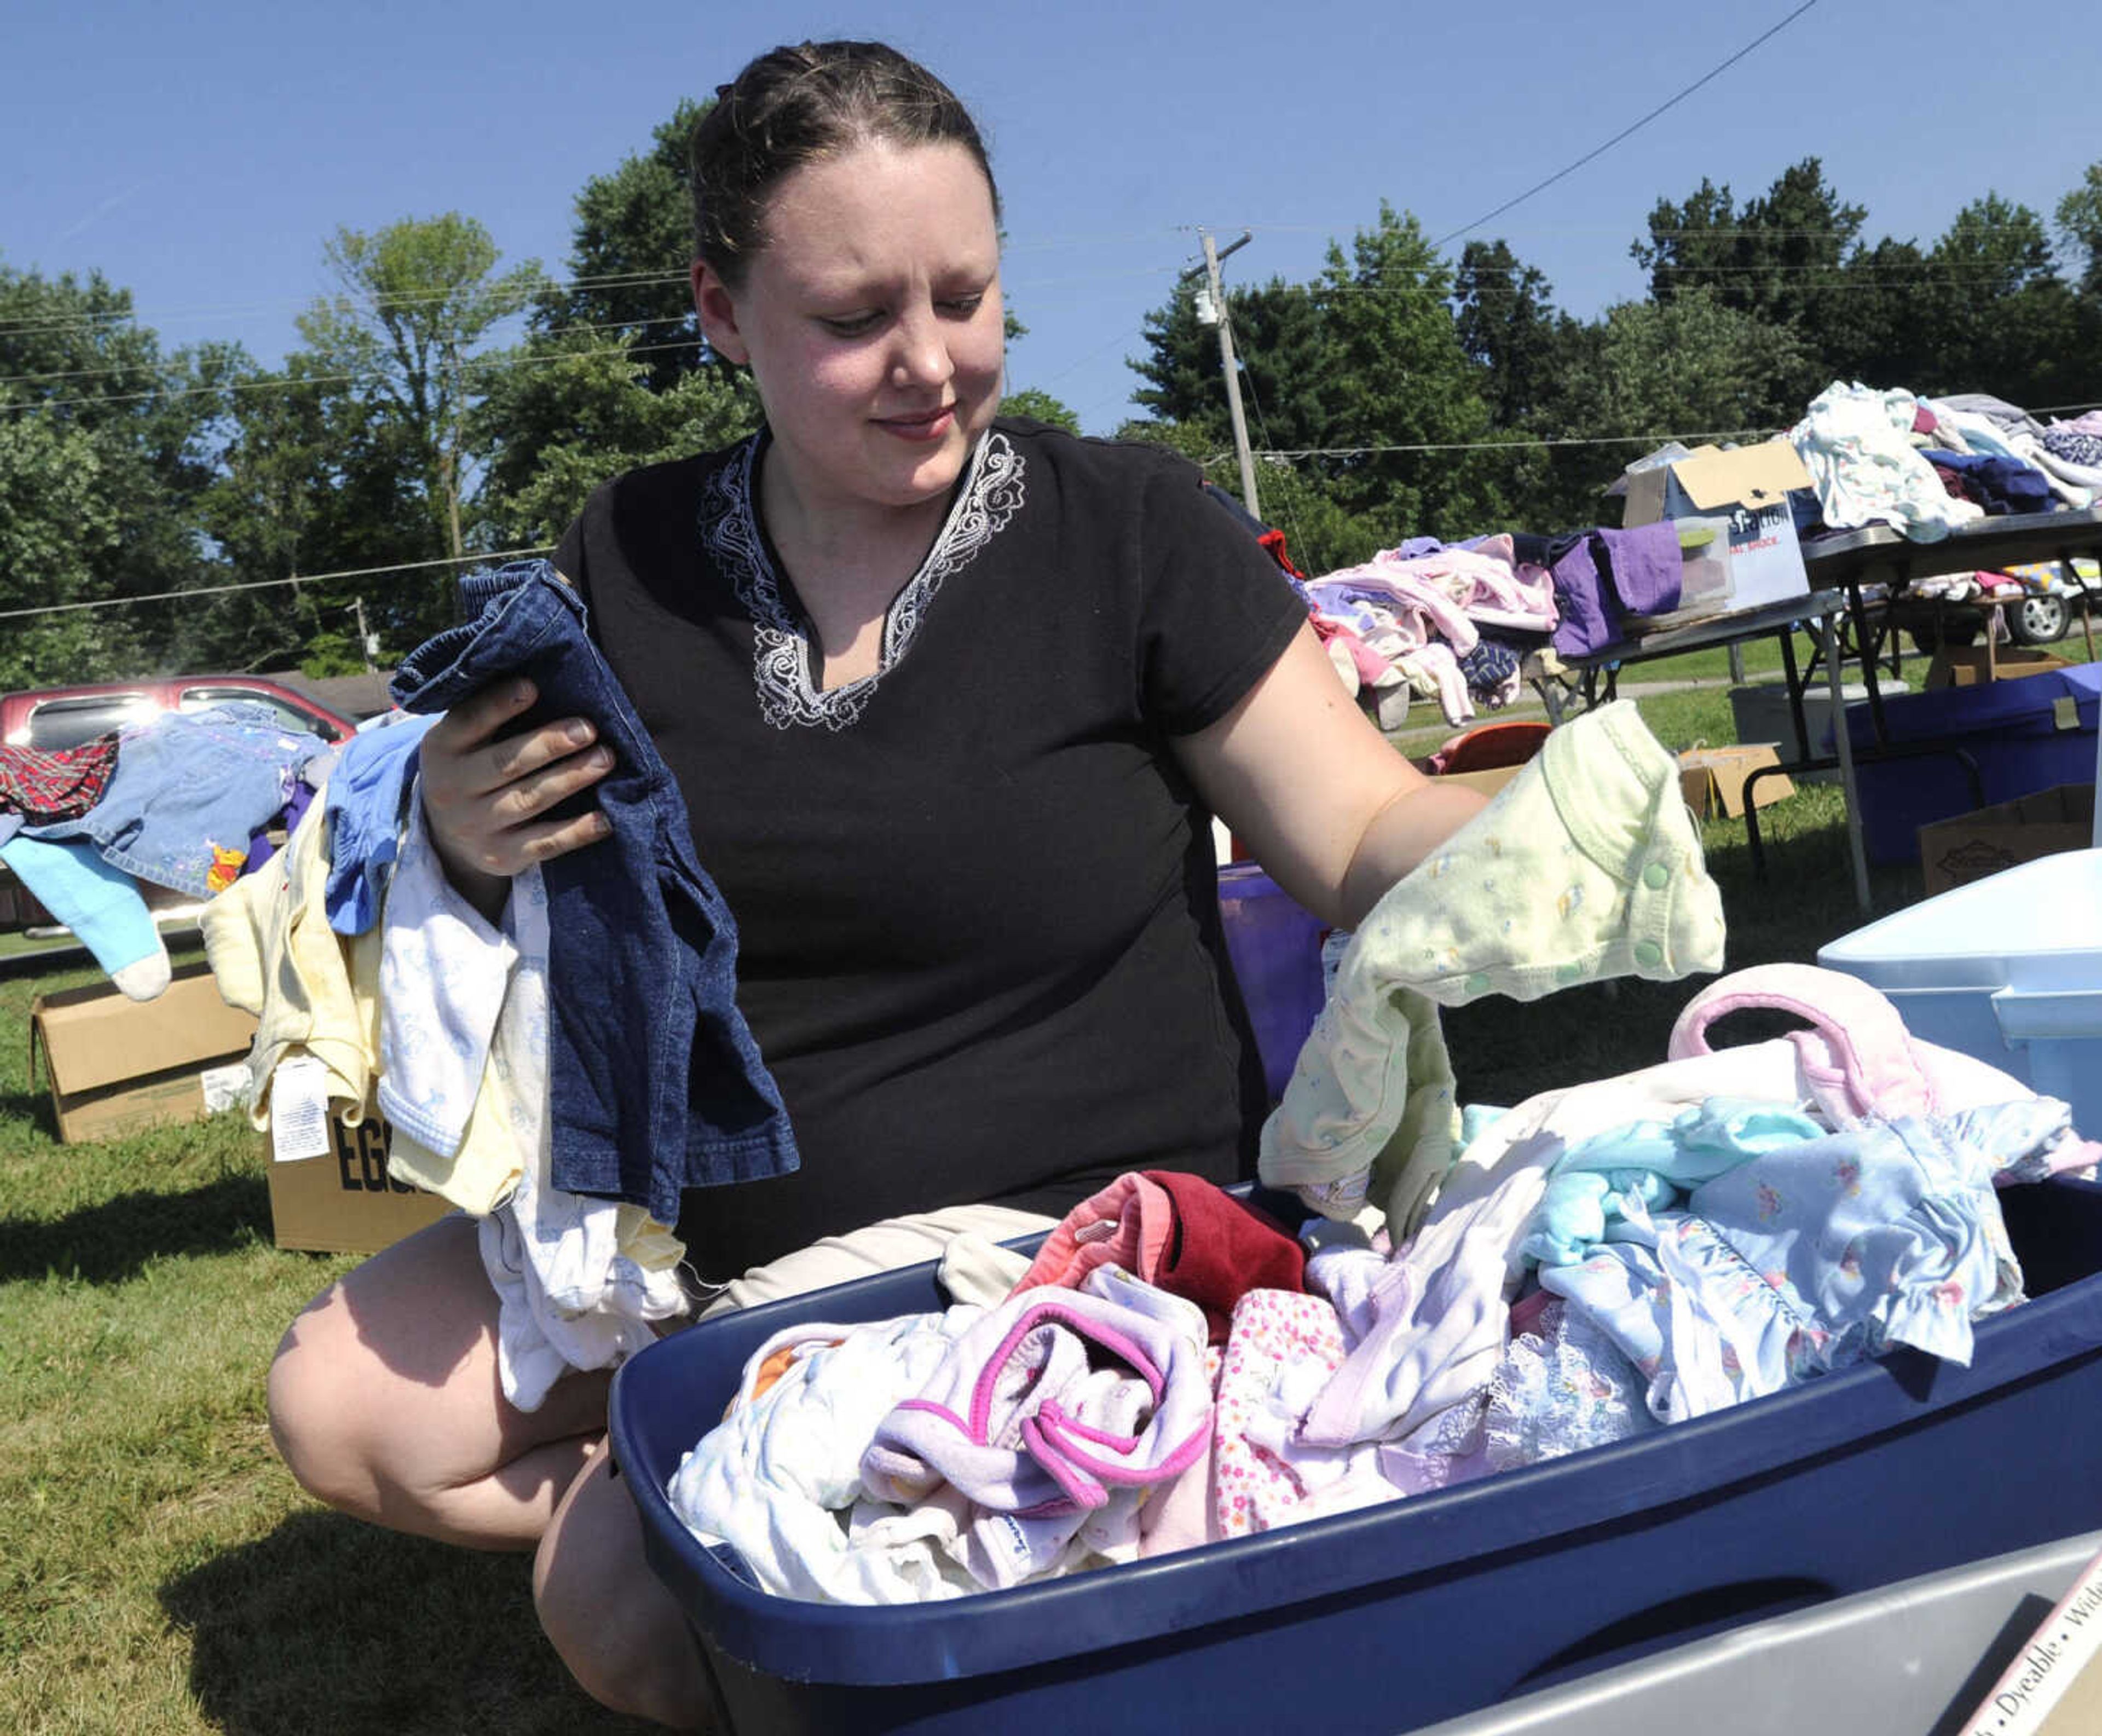
<path id="1" fill-rule="evenodd" d="M 1001 420 L 883 668 L 824 694 L 761 454 L 618 477 L 557 557 L 736 914 L 738 1005 L 803 1154 L 685 1196 L 702 1276 L 904 1211 L 1244 1173 L 1261 1063 L 1169 738 L 1223 717 L 1305 607 L 1188 462 Z"/>

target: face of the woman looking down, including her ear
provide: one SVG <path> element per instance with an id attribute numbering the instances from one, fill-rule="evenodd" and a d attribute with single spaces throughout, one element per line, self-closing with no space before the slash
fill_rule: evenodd
<path id="1" fill-rule="evenodd" d="M 992 189 L 961 145 L 866 143 L 799 168 L 744 288 L 694 265 L 702 330 L 750 364 L 769 464 L 803 507 L 916 507 L 1001 397 Z"/>

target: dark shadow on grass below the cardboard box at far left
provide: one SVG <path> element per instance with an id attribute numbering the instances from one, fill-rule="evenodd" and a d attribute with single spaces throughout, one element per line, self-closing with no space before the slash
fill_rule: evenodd
<path id="1" fill-rule="evenodd" d="M 0 1282 L 46 1272 L 92 1284 L 132 1278 L 164 1255 L 221 1255 L 269 1240 L 269 1185 L 227 1175 L 183 1194 L 120 1194 L 53 1219 L 0 1219 Z"/>

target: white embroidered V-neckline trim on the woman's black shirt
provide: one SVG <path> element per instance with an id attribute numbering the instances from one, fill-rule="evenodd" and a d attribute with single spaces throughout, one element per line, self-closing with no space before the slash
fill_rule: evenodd
<path id="1" fill-rule="evenodd" d="M 729 462 L 719 464 L 708 477 L 700 496 L 700 540 L 708 557 L 729 576 L 738 601 L 753 618 L 753 681 L 759 687 L 759 715 L 776 729 L 788 729 L 797 723 L 847 729 L 860 721 L 877 683 L 910 649 L 942 582 L 975 561 L 1022 509 L 1026 467 L 1013 441 L 998 429 L 988 429 L 980 437 L 971 450 L 963 488 L 956 490 L 956 502 L 942 523 L 942 534 L 935 536 L 919 572 L 906 580 L 885 609 L 883 654 L 877 673 L 822 689 L 809 673 L 809 633 L 782 593 L 780 576 L 759 530 L 753 475 L 763 441 L 765 431 L 755 433 Z"/>

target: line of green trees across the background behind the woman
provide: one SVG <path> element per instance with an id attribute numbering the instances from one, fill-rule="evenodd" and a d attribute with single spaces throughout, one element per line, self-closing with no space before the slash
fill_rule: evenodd
<path id="1" fill-rule="evenodd" d="M 99 273 L 0 259 L 0 612 L 38 612 L 6 620 L 0 687 L 326 675 L 362 664 L 359 631 L 389 662 L 450 622 L 454 557 L 544 546 L 601 479 L 757 427 L 687 296 L 698 113 L 584 183 L 561 275 L 504 265 L 456 212 L 338 229 L 332 290 L 275 368 L 162 349 Z M 1593 523 L 1640 439 L 1766 433 L 1833 378 L 2102 399 L 2102 162 L 2054 225 L 1993 193 L 1932 246 L 1864 225 L 1816 158 L 1745 202 L 1703 181 L 1633 242 L 1646 296 L 1576 319 L 1505 242 L 1446 259 L 1381 204 L 1312 282 L 1228 296 L 1255 443 L 1282 454 L 1263 513 L 1320 570 L 1413 534 Z M 1129 361 L 1143 414 L 1118 433 L 1232 485 L 1190 294 L 1146 315 Z M 1045 393 L 1009 408 L 1072 425 Z"/>

